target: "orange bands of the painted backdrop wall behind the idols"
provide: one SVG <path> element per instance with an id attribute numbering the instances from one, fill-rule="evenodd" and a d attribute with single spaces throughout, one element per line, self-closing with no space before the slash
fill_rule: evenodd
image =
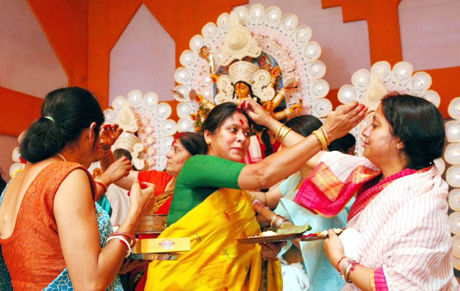
<path id="1" fill-rule="evenodd" d="M 190 38 L 201 33 L 207 22 L 246 0 L 28 0 L 68 78 L 69 86 L 92 90 L 101 105 L 108 106 L 110 50 L 127 24 L 144 3 L 176 43 L 176 64 Z M 341 6 L 344 22 L 366 20 L 371 63 L 402 61 L 397 7 L 400 0 L 322 0 L 322 7 Z M 385 30 L 382 28 L 385 27 Z M 392 50 L 386 50 L 391 46 Z M 430 89 L 441 95 L 440 111 L 448 118 L 449 101 L 460 96 L 460 67 L 426 70 L 432 77 Z M 339 105 L 338 88 L 328 98 Z M 39 117 L 42 99 L 0 87 L 0 134 L 17 136 Z M 177 102 L 169 101 L 175 108 Z M 173 110 L 174 112 L 175 110 Z M 178 119 L 173 113 L 171 117 Z"/>

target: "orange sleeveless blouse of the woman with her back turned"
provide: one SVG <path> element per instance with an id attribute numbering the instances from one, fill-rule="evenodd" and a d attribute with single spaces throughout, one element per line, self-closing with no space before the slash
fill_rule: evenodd
<path id="1" fill-rule="evenodd" d="M 53 162 L 26 190 L 13 233 L 0 238 L 14 290 L 42 290 L 66 268 L 53 205 L 59 185 L 77 168 L 87 172 L 94 197 L 95 185 L 86 168 L 75 162 Z"/>

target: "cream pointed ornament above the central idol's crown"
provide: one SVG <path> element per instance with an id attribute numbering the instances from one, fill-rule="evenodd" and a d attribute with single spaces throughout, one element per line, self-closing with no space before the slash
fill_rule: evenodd
<path id="1" fill-rule="evenodd" d="M 235 11 L 230 12 L 229 23 L 230 27 L 221 50 L 220 64 L 227 66 L 233 60 L 241 60 L 245 56 L 260 56 L 262 50 L 251 33 L 240 24 Z"/>

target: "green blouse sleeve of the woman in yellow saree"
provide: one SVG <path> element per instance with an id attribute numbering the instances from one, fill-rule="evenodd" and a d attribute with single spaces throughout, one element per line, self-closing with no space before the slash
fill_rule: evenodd
<path id="1" fill-rule="evenodd" d="M 185 162 L 177 180 L 190 188 L 241 189 L 238 177 L 244 166 L 246 164 L 221 157 L 196 155 Z"/>

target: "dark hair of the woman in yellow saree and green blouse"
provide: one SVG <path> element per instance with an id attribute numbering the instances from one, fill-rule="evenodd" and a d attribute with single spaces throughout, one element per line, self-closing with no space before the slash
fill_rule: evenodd
<path id="1" fill-rule="evenodd" d="M 224 102 L 214 107 L 209 112 L 206 120 L 203 122 L 203 125 L 201 126 L 201 133 L 204 134 L 204 131 L 207 129 L 211 134 L 216 134 L 225 119 L 232 116 L 233 113 L 238 112 L 236 107 L 237 105 L 233 102 Z M 252 120 L 249 116 L 247 116 L 247 113 L 244 111 L 240 112 L 247 118 L 249 125 L 251 125 Z"/>

